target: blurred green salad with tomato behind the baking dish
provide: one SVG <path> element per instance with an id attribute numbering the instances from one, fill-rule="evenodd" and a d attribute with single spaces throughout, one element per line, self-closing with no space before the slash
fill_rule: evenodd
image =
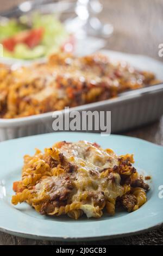
<path id="1" fill-rule="evenodd" d="M 0 43 L 3 56 L 18 59 L 35 59 L 51 53 L 66 51 L 66 44 L 73 48 L 73 36 L 54 15 L 33 14 L 19 20 L 0 24 Z"/>

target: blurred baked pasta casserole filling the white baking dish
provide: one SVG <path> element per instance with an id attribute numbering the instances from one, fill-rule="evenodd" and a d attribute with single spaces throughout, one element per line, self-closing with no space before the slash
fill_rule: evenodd
<path id="1" fill-rule="evenodd" d="M 102 54 L 53 54 L 45 63 L 0 64 L 0 118 L 27 117 L 116 97 L 155 84 L 154 74 Z"/>

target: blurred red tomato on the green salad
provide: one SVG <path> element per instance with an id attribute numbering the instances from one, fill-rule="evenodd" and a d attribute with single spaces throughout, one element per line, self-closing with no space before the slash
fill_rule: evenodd
<path id="1" fill-rule="evenodd" d="M 4 39 L 2 44 L 8 51 L 11 52 L 14 51 L 15 45 L 20 43 L 26 44 L 30 48 L 33 48 L 42 40 L 43 32 L 43 28 L 22 31 L 11 38 Z"/>

